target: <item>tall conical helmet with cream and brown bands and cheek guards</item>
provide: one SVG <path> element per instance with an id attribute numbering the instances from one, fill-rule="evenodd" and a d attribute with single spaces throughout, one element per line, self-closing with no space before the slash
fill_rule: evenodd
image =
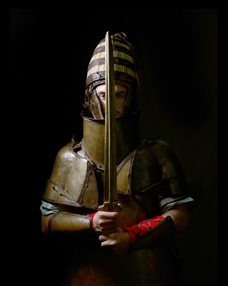
<path id="1" fill-rule="evenodd" d="M 114 76 L 115 84 L 127 88 L 127 100 L 125 103 L 124 115 L 135 112 L 136 88 L 139 86 L 139 70 L 135 58 L 134 49 L 127 40 L 124 33 L 116 33 L 111 36 L 113 47 Z M 84 107 L 89 110 L 95 119 L 103 119 L 101 107 L 95 88 L 105 84 L 105 39 L 97 45 L 88 66 L 86 78 L 86 93 Z"/>

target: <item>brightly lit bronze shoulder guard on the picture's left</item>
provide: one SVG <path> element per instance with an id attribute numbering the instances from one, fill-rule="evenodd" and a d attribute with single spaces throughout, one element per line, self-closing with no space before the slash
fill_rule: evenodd
<path id="1" fill-rule="evenodd" d="M 42 200 L 97 209 L 98 190 L 94 169 L 86 157 L 74 151 L 75 148 L 77 146 L 72 143 L 58 152 Z"/>

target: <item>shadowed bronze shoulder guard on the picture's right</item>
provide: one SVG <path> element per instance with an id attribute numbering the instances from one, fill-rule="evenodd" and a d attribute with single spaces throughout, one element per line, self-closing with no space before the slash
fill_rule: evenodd
<path id="1" fill-rule="evenodd" d="M 124 193 L 120 191 L 122 189 L 129 195 L 153 193 L 178 197 L 189 194 L 180 162 L 174 151 L 162 140 L 137 147 L 121 165 L 117 175 L 120 193 Z"/>

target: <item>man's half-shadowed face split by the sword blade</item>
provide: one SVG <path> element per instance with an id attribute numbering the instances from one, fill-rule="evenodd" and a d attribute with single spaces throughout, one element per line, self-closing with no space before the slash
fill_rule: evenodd
<path id="1" fill-rule="evenodd" d="M 97 86 L 96 93 L 100 102 L 101 111 L 105 115 L 105 84 Z M 123 116 L 124 107 L 127 100 L 127 88 L 115 84 L 115 93 L 116 93 L 116 117 Z"/>

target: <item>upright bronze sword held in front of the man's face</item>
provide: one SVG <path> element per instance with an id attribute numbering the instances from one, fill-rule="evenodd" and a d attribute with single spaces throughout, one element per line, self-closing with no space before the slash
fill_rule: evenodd
<path id="1" fill-rule="evenodd" d="M 116 175 L 116 103 L 113 48 L 109 32 L 105 37 L 105 171 L 104 203 L 98 209 L 104 212 L 121 212 L 117 204 Z"/>

